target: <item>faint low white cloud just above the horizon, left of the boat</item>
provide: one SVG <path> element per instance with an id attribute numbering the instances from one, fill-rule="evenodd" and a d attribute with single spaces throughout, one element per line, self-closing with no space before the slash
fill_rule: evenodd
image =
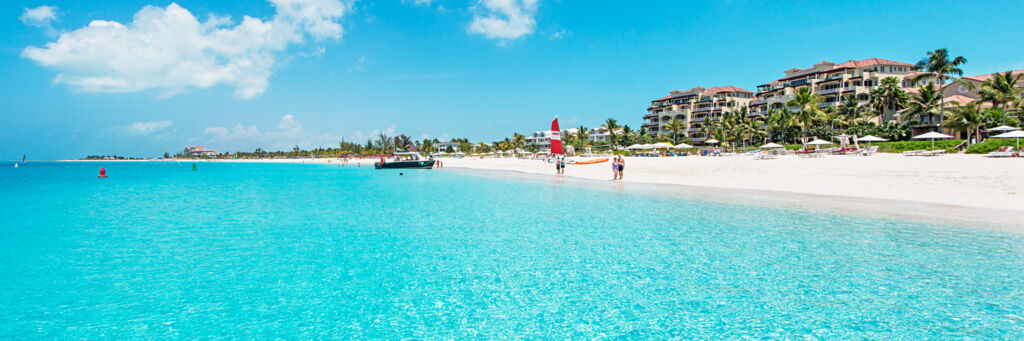
<path id="1" fill-rule="evenodd" d="M 298 145 L 303 148 L 336 146 L 341 136 L 329 133 L 312 133 L 302 128 L 302 123 L 292 115 L 285 115 L 278 122 L 276 130 L 261 131 L 255 125 L 237 124 L 234 127 L 209 127 L 203 131 L 204 137 L 195 138 L 212 147 L 224 151 L 253 151 L 257 147 L 267 151 L 287 151 Z"/>

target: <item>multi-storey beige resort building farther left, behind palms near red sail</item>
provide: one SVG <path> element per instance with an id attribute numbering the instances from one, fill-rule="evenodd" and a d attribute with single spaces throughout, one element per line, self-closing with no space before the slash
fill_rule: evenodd
<path id="1" fill-rule="evenodd" d="M 756 100 L 754 92 L 735 86 L 695 87 L 674 90 L 668 96 L 651 100 L 644 116 L 643 128 L 651 135 L 668 133 L 665 126 L 672 120 L 686 123 L 686 133 L 694 142 L 708 138 L 703 125 L 722 119 L 722 113 L 748 108 Z"/>

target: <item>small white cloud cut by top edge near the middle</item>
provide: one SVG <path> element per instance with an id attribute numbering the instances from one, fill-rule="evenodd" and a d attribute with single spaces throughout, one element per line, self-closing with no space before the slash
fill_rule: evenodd
<path id="1" fill-rule="evenodd" d="M 469 32 L 504 43 L 534 33 L 538 0 L 480 0 L 485 10 L 473 15 Z"/>

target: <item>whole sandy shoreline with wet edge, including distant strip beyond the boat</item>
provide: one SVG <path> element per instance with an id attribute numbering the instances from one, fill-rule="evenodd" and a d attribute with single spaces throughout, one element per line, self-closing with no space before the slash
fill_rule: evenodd
<path id="1" fill-rule="evenodd" d="M 586 160 L 586 159 L 580 159 Z M 76 162 L 78 160 L 69 160 Z M 89 160 L 86 162 L 139 162 Z M 376 159 L 156 160 L 156 162 L 371 164 Z M 567 167 L 511 158 L 441 159 L 456 172 L 529 181 L 579 182 L 690 200 L 834 214 L 984 226 L 1024 233 L 1024 160 L 949 155 L 874 155 L 821 159 L 780 157 L 627 158 L 626 179 L 611 181 L 609 163 Z M 437 171 L 437 170 L 435 170 Z"/>

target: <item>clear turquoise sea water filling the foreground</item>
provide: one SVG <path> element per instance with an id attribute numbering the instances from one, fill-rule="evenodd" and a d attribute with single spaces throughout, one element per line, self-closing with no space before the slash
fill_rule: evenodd
<path id="1" fill-rule="evenodd" d="M 0 164 L 0 338 L 1024 338 L 1018 235 L 190 166 Z"/>

